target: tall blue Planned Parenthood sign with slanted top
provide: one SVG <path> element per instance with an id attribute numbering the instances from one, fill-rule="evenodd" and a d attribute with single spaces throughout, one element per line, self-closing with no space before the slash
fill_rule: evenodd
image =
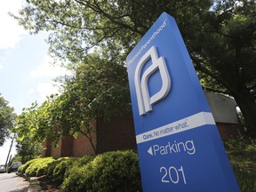
<path id="1" fill-rule="evenodd" d="M 240 191 L 175 20 L 164 12 L 126 63 L 143 190 Z"/>

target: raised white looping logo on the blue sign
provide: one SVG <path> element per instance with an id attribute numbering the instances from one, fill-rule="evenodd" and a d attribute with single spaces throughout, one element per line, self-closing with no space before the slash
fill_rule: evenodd
<path id="1" fill-rule="evenodd" d="M 140 78 L 141 70 L 145 63 L 151 59 L 152 65 L 146 69 Z M 162 79 L 162 87 L 159 92 L 156 92 L 153 96 L 149 97 L 148 92 L 148 77 L 151 76 L 156 69 L 159 69 L 160 76 Z M 168 69 L 165 64 L 164 57 L 158 58 L 156 47 L 152 46 L 148 52 L 146 52 L 139 60 L 137 68 L 135 69 L 135 89 L 138 100 L 140 116 L 146 114 L 148 111 L 152 110 L 152 104 L 159 100 L 163 100 L 168 94 L 171 88 L 171 78 L 168 73 Z"/>

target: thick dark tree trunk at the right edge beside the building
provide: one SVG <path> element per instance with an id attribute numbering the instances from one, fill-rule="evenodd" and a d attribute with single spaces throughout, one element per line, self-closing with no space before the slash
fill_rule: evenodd
<path id="1" fill-rule="evenodd" d="M 233 95 L 240 108 L 250 136 L 256 136 L 256 98 L 247 90 Z"/>

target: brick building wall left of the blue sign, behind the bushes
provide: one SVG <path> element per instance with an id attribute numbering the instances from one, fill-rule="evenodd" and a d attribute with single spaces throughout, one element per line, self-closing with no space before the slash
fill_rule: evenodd
<path id="1" fill-rule="evenodd" d="M 135 130 L 132 113 L 124 113 L 116 116 L 111 122 L 104 123 L 98 120 L 96 132 L 92 133 L 92 142 L 97 153 L 112 150 L 136 149 Z M 60 139 L 57 148 L 53 148 L 50 142 L 43 144 L 42 156 L 84 156 L 94 155 L 92 144 L 84 135 L 77 138 L 66 136 Z"/>

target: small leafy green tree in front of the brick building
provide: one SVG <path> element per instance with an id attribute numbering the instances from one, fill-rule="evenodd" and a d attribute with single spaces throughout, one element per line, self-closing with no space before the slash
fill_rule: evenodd
<path id="1" fill-rule="evenodd" d="M 131 109 L 128 79 L 124 61 L 116 56 L 106 58 L 92 53 L 76 66 L 75 76 L 63 79 L 60 95 L 52 95 L 40 106 L 33 103 L 24 108 L 14 130 L 20 143 L 26 138 L 35 142 L 57 143 L 62 136 L 83 134 L 97 148 L 92 139 L 97 119 L 109 121 L 112 116 Z"/>

